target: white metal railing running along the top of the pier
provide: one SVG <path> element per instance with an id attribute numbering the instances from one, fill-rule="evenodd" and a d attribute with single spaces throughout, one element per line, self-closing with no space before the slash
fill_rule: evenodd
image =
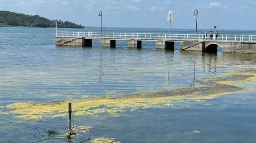
<path id="1" fill-rule="evenodd" d="M 156 33 L 98 33 L 98 32 L 57 32 L 61 37 L 85 37 L 85 38 L 114 38 L 114 39 L 142 39 L 142 40 L 199 40 L 201 41 L 232 41 L 232 42 L 256 42 L 256 35 L 252 34 L 220 34 L 216 36 L 204 34 L 156 34 Z"/>

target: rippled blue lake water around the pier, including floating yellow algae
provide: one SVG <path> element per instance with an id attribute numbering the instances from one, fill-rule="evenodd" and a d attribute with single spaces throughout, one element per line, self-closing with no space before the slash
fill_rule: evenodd
<path id="1" fill-rule="evenodd" d="M 156 50 L 154 42 L 128 49 L 125 41 L 101 48 L 99 40 L 93 47 L 58 47 L 54 36 L 51 28 L 0 28 L 0 143 L 84 141 L 79 131 L 65 135 L 68 101 L 72 125 L 90 126 L 87 134 L 102 143 L 255 142 L 255 54 L 180 51 L 178 42 L 175 50 Z"/>

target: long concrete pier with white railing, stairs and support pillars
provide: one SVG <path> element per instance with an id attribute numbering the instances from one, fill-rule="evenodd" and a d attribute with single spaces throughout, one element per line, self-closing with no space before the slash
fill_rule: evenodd
<path id="1" fill-rule="evenodd" d="M 157 49 L 174 49 L 175 42 L 181 42 L 180 50 L 256 53 L 256 35 L 253 34 L 155 34 L 155 33 L 97 33 L 57 32 L 57 46 L 92 46 L 94 39 L 102 40 L 102 47 L 115 47 L 116 40 L 128 41 L 128 48 L 141 48 L 142 41 L 155 41 Z"/>

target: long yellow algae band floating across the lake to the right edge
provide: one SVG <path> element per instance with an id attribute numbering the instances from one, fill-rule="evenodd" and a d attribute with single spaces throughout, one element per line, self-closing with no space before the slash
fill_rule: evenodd
<path id="1" fill-rule="evenodd" d="M 121 114 L 136 109 L 152 108 L 159 105 L 172 105 L 174 100 L 210 100 L 230 93 L 248 91 L 234 82 L 249 82 L 256 77 L 256 70 L 232 72 L 230 77 L 204 79 L 198 82 L 206 86 L 198 88 L 177 88 L 158 93 L 128 94 L 123 97 L 86 97 L 71 101 L 53 101 L 47 103 L 14 103 L 7 105 L 10 113 L 19 114 L 18 118 L 40 119 L 47 117 L 64 117 L 67 115 L 67 105 L 72 102 L 72 111 L 76 116 L 97 114 Z M 248 80 L 250 79 L 250 80 Z"/>

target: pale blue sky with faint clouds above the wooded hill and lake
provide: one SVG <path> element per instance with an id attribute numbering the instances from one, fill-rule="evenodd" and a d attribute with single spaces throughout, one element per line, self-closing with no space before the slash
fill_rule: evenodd
<path id="1" fill-rule="evenodd" d="M 199 29 L 256 29 L 256 0 L 0 0 L 1 10 L 73 21 L 85 26 L 194 29 L 194 10 Z"/>

